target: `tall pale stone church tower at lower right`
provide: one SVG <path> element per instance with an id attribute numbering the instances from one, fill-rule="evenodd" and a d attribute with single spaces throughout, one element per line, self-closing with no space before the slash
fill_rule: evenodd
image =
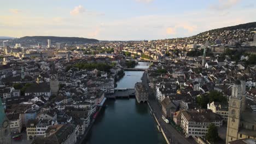
<path id="1" fill-rule="evenodd" d="M 237 140 L 237 133 L 240 123 L 240 115 L 245 109 L 245 83 L 243 80 L 236 80 L 232 86 L 232 94 L 229 98 L 229 116 L 226 129 L 226 143 Z"/>

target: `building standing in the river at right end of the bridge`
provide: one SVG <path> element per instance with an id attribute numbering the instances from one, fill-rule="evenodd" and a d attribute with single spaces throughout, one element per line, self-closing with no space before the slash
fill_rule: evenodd
<path id="1" fill-rule="evenodd" d="M 135 84 L 135 96 L 138 101 L 138 103 L 143 103 L 145 101 L 148 101 L 148 89 L 142 84 L 142 82 L 137 82 Z"/>

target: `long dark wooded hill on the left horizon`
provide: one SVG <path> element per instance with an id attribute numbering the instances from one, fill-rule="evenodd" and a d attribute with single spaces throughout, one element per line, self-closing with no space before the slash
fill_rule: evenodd
<path id="1" fill-rule="evenodd" d="M 78 38 L 78 37 L 53 37 L 53 36 L 32 36 L 32 37 L 22 37 L 20 40 L 36 40 L 36 41 L 47 41 L 50 39 L 52 42 L 59 43 L 95 43 L 98 42 L 97 39 L 88 39 L 88 38 Z"/>

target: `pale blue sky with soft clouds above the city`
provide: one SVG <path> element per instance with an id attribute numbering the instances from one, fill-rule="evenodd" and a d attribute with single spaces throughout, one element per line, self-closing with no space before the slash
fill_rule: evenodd
<path id="1" fill-rule="evenodd" d="M 15 38 L 157 40 L 255 21 L 255 0 L 0 1 L 0 36 Z"/>

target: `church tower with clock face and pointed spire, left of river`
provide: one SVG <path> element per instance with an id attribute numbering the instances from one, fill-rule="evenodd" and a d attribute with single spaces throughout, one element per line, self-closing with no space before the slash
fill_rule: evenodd
<path id="1" fill-rule="evenodd" d="M 51 89 L 51 95 L 56 95 L 59 92 L 59 80 L 58 80 L 58 74 L 55 69 L 55 64 L 53 63 L 51 65 L 51 72 L 50 72 L 50 89 Z"/>

